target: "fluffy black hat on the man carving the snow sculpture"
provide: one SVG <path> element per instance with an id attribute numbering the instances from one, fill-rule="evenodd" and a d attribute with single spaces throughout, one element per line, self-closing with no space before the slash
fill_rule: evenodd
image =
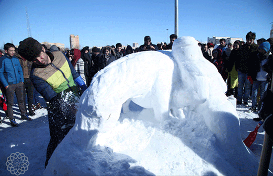
<path id="1" fill-rule="evenodd" d="M 40 56 L 42 51 L 42 44 L 32 37 L 26 38 L 19 43 L 18 54 L 28 61 L 33 61 L 36 59 L 38 56 Z"/>

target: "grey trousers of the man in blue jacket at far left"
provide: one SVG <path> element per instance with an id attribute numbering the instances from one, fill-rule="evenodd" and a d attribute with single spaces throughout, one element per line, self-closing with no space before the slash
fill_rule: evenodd
<path id="1" fill-rule="evenodd" d="M 19 110 L 21 115 L 26 114 L 25 104 L 24 104 L 24 94 L 23 94 L 24 84 L 19 82 L 18 84 L 9 84 L 8 88 L 6 89 L 6 102 L 7 102 L 7 115 L 9 119 L 14 119 L 13 117 L 13 99 L 14 99 L 14 92 L 17 98 Z"/>

